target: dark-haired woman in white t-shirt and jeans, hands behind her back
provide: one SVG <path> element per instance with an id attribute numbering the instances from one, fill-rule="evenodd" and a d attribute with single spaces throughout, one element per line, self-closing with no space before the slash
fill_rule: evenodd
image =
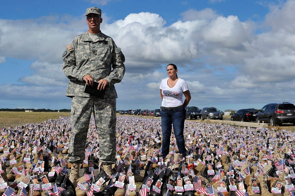
<path id="1" fill-rule="evenodd" d="M 160 84 L 160 95 L 162 98 L 161 106 L 161 124 L 162 124 L 162 157 L 165 159 L 169 153 L 170 137 L 172 132 L 172 124 L 174 136 L 176 138 L 178 152 L 185 157 L 184 146 L 184 120 L 185 107 L 191 100 L 191 93 L 187 83 L 177 77 L 178 69 L 176 65 L 169 64 L 166 67 L 169 78 L 162 80 Z M 183 102 L 182 95 L 185 100 Z"/>

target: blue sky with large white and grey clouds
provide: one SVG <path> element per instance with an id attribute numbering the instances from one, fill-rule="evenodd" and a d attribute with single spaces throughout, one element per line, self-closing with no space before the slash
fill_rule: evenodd
<path id="1" fill-rule="evenodd" d="M 178 66 L 190 106 L 262 108 L 294 101 L 295 1 L 3 1 L 0 108 L 71 108 L 61 56 L 102 10 L 101 31 L 126 57 L 117 109 L 155 109 L 165 66 Z"/>

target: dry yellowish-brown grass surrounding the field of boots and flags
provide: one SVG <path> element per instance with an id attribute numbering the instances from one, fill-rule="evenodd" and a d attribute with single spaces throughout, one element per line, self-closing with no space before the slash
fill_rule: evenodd
<path id="1" fill-rule="evenodd" d="M 0 112 L 0 127 L 8 127 L 24 125 L 27 123 L 40 123 L 42 121 L 47 121 L 48 119 L 56 119 L 61 115 L 62 117 L 70 116 L 70 112 Z M 117 113 L 117 116 L 130 116 L 130 115 L 120 115 Z M 156 118 L 153 116 L 136 116 L 141 118 Z M 157 117 L 159 118 L 159 117 Z M 224 116 L 224 120 L 230 120 L 230 116 Z M 186 120 L 189 121 L 189 120 Z M 201 122 L 198 120 L 191 120 L 193 122 Z M 203 122 L 208 122 L 207 120 Z M 291 123 L 284 123 L 282 126 L 268 126 L 269 129 L 274 128 L 275 130 L 291 130 L 295 131 L 295 126 Z"/>

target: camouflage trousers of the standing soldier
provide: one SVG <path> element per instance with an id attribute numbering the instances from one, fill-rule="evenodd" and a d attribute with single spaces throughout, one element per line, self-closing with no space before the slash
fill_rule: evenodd
<path id="1" fill-rule="evenodd" d="M 72 136 L 69 145 L 69 162 L 83 163 L 91 112 L 99 137 L 100 161 L 115 163 L 116 155 L 116 99 L 73 97 L 71 108 Z"/>

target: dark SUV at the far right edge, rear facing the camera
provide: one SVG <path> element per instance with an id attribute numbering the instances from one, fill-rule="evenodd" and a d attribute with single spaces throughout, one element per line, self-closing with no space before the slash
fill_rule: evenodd
<path id="1" fill-rule="evenodd" d="M 293 123 L 295 125 L 295 106 L 289 102 L 269 103 L 256 114 L 256 122 L 264 121 L 276 126 L 281 123 Z"/>

